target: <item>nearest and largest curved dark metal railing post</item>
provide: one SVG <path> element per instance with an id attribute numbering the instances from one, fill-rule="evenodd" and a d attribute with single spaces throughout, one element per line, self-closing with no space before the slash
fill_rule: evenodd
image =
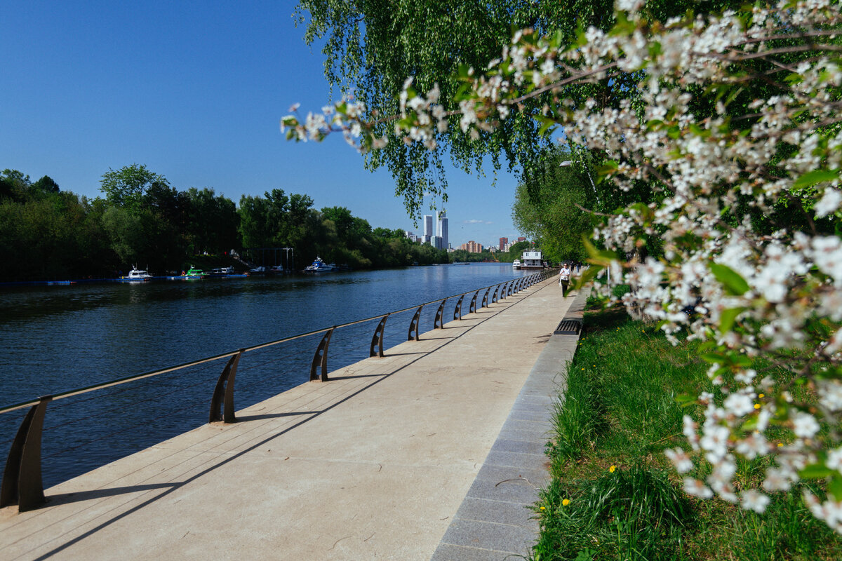
<path id="1" fill-rule="evenodd" d="M 24 416 L 18 434 L 8 451 L 3 484 L 0 487 L 0 506 L 18 503 L 18 511 L 38 508 L 46 502 L 41 479 L 41 432 L 44 415 L 51 395 L 45 395 Z"/>

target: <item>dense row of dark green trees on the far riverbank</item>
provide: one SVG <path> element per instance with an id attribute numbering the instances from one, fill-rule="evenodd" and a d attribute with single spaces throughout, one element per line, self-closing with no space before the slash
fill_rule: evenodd
<path id="1" fill-rule="evenodd" d="M 134 172 L 153 180 L 131 183 Z M 16 170 L 0 173 L 0 260 L 8 264 L 0 280 L 109 277 L 133 265 L 163 274 L 183 269 L 191 254 L 242 246 L 292 247 L 299 265 L 317 256 L 354 268 L 447 261 L 402 230 L 372 230 L 349 209 L 313 209 L 304 194 L 273 189 L 243 196 L 237 208 L 211 188 L 180 192 L 145 167 L 106 175 L 119 188 L 88 200 L 48 176 L 32 183 Z"/>

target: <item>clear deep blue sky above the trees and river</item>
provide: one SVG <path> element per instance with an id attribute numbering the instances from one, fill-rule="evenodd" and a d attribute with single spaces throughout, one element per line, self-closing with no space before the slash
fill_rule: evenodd
<path id="1" fill-rule="evenodd" d="M 320 48 L 293 2 L 6 0 L 0 34 L 0 169 L 96 197 L 109 168 L 144 164 L 179 190 L 239 201 L 272 188 L 344 206 L 373 227 L 418 232 L 387 170 L 339 136 L 287 142 L 292 103 L 329 98 Z M 450 243 L 518 236 L 516 181 L 448 174 Z"/>

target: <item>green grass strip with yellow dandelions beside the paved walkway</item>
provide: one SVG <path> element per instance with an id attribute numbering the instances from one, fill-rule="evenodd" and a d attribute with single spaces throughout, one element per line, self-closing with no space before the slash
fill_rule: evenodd
<path id="1" fill-rule="evenodd" d="M 710 389 L 694 344 L 673 347 L 622 310 L 588 313 L 585 326 L 546 447 L 552 483 L 536 505 L 532 558 L 842 558 L 842 539 L 813 518 L 800 489 L 773 495 L 763 515 L 681 490 L 663 449 L 681 446 L 685 412 L 701 418 L 676 397 Z M 767 463 L 740 461 L 738 487 L 756 486 Z"/>

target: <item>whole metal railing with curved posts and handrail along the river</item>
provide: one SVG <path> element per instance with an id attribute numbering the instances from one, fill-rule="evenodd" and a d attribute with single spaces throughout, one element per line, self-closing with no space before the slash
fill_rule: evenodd
<path id="1" fill-rule="evenodd" d="M 509 280 L 504 283 L 492 284 L 488 287 L 469 290 L 465 293 L 455 294 L 443 299 L 431 300 L 429 302 L 425 302 L 424 304 L 404 308 L 403 310 L 395 310 L 386 313 L 385 315 L 376 315 L 370 318 L 365 318 L 364 320 L 351 321 L 342 325 L 333 325 L 332 327 L 321 330 L 310 331 L 296 336 L 278 339 L 276 341 L 261 343 L 253 347 L 244 347 L 237 349 L 236 351 L 223 352 L 212 357 L 200 358 L 189 363 L 161 368 L 153 370 L 152 372 L 125 376 L 124 378 L 118 378 L 102 384 L 93 384 L 84 388 L 71 389 L 58 394 L 44 395 L 36 398 L 35 400 L 28 400 L 18 404 L 0 407 L 0 415 L 29 407 L 29 411 L 27 411 L 26 415 L 24 415 L 24 420 L 20 424 L 17 435 L 14 437 L 12 446 L 9 449 L 6 468 L 3 472 L 3 483 L 2 486 L 0 486 L 0 507 L 14 505 L 17 503 L 18 510 L 23 512 L 35 509 L 45 502 L 44 485 L 41 477 L 41 440 L 47 405 L 51 401 L 63 400 L 95 390 L 111 388 L 120 384 L 128 384 L 143 378 L 151 378 L 165 373 L 172 373 L 183 370 L 184 368 L 195 367 L 200 364 L 212 363 L 227 358 L 228 361 L 222 369 L 221 374 L 216 379 L 216 386 L 214 387 L 213 393 L 210 397 L 210 415 L 208 415 L 208 422 L 222 421 L 225 423 L 232 423 L 237 421 L 234 413 L 234 382 L 237 376 L 237 366 L 240 363 L 242 355 L 247 352 L 258 351 L 259 349 L 274 347 L 276 345 L 296 341 L 308 336 L 323 334 L 310 365 L 310 380 L 327 382 L 330 379 L 328 377 L 328 347 L 330 346 L 331 336 L 333 336 L 333 333 L 338 329 L 378 320 L 374 335 L 371 337 L 369 357 L 384 357 L 383 336 L 386 331 L 386 320 L 388 320 L 392 315 L 415 310 L 413 318 L 409 324 L 407 340 L 418 341 L 421 331 L 419 325 L 421 311 L 425 306 L 439 304 L 435 314 L 434 329 L 443 329 L 445 324 L 445 303 L 448 300 L 458 298 L 453 310 L 453 320 L 461 320 L 463 301 L 468 294 L 472 294 L 472 297 L 470 304 L 468 305 L 467 313 L 476 313 L 478 310 L 488 307 L 488 304 L 497 303 L 499 300 L 505 299 L 512 294 L 517 294 L 520 290 L 529 288 L 535 283 L 546 280 L 546 278 L 551 277 L 555 273 L 555 269 L 549 269 L 540 273 L 533 273 L 529 276 Z M 480 304 L 477 306 L 477 299 L 481 293 L 482 299 L 480 300 Z"/>

